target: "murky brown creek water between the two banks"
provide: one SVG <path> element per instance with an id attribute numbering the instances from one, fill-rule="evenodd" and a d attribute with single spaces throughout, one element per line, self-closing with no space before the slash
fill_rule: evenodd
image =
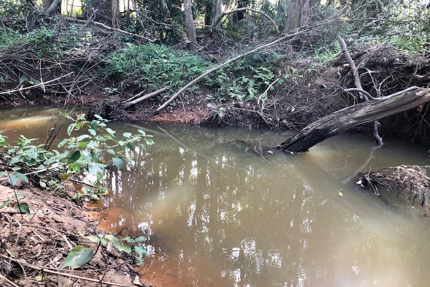
<path id="1" fill-rule="evenodd" d="M 0 130 L 44 139 L 54 110 L 2 110 Z M 429 147 L 343 134 L 299 155 L 269 154 L 290 132 L 112 123 L 155 145 L 106 170 L 106 230 L 146 236 L 154 286 L 405 287 L 430 282 L 430 218 L 356 185 L 356 174 L 430 165 Z M 251 143 L 248 145 L 241 141 Z M 43 140 L 40 140 L 43 142 Z M 339 194 L 342 193 L 342 196 Z"/>

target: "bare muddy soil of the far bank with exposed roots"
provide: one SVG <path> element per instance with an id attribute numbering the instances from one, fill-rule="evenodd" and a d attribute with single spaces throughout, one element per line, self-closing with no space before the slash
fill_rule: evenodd
<path id="1" fill-rule="evenodd" d="M 367 50 L 354 51 L 351 55 L 360 73 L 363 88 L 374 97 L 390 95 L 411 86 L 429 87 L 429 57 L 410 57 L 395 46 L 379 45 Z M 152 97 L 137 105 L 124 108 L 126 100 L 139 89 L 127 83 L 127 89 L 112 92 L 103 89 L 112 83 L 100 82 L 80 88 L 79 97 L 65 94 L 44 94 L 39 90 L 30 97 L 10 95 L 0 99 L 1 106 L 23 105 L 90 105 L 92 114 L 101 114 L 111 120 L 155 121 L 186 123 L 204 126 L 242 126 L 248 128 L 300 130 L 308 124 L 346 106 L 360 101 L 343 89 L 354 87 L 351 69 L 343 56 L 324 67 L 311 69 L 316 63 L 312 58 L 293 59 L 284 57 L 282 67 L 286 71 L 294 67 L 296 76 L 273 90 L 267 91 L 264 102 L 213 101 L 204 86 L 195 94 L 184 93 L 158 115 L 151 115 L 168 97 Z M 124 84 L 124 83 L 121 83 Z M 380 135 L 395 135 L 419 142 L 429 141 L 430 113 L 428 104 L 402 114 L 379 119 Z M 372 125 L 353 128 L 354 132 L 372 133 Z"/>

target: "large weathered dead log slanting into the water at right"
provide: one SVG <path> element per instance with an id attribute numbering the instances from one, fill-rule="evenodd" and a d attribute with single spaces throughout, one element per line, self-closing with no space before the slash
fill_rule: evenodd
<path id="1" fill-rule="evenodd" d="M 410 110 L 429 101 L 430 89 L 427 88 L 406 92 L 385 101 L 359 103 L 311 123 L 276 148 L 289 152 L 305 152 L 317 143 L 348 128 Z"/>

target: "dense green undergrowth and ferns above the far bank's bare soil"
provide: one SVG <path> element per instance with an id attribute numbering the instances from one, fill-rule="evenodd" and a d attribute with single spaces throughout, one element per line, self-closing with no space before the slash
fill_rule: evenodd
<path id="1" fill-rule="evenodd" d="M 390 43 L 399 52 L 420 57 L 430 49 L 429 9 L 417 0 L 227 1 L 223 11 L 250 10 L 222 16 L 219 29 L 212 26 L 217 19 L 215 2 L 194 2 L 198 49 L 190 53 L 185 51 L 190 39 L 186 38 L 181 2 L 132 1 L 133 5 L 127 6 L 125 1 L 118 3 L 122 8 L 115 14 L 110 2 L 82 1 L 77 6 L 76 1 L 65 1 L 56 11 L 76 18 L 64 18 L 55 10 L 45 14 L 45 1 L 39 7 L 31 1 L 0 0 L 0 92 L 69 72 L 74 74 L 62 79 L 61 85 L 54 82 L 29 89 L 22 97 L 31 102 L 52 93 L 78 97 L 94 85 L 107 94 L 123 96 L 164 86 L 176 91 L 217 63 L 274 39 L 275 25 L 289 32 L 292 20 L 313 28 L 224 66 L 193 86 L 191 92 L 204 89 L 209 101 L 255 101 L 268 88 L 291 87 L 303 77 L 321 74 L 340 56 L 338 35 L 353 51 Z M 311 5 L 300 6 L 302 12 L 308 9 L 302 13 L 305 19 L 291 14 L 293 6 L 302 2 Z M 309 64 L 302 65 L 304 61 Z M 5 93 L 2 97 L 14 100 Z"/>

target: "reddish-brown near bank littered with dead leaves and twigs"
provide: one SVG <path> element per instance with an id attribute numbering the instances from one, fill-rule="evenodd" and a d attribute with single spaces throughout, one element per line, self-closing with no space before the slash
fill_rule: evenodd
<path id="1" fill-rule="evenodd" d="M 136 286 L 131 257 L 109 244 L 92 244 L 78 234 L 106 234 L 98 228 L 103 219 L 91 218 L 82 204 L 70 200 L 70 194 L 50 196 L 19 183 L 13 191 L 3 184 L 0 182 L 0 202 L 12 203 L 0 210 L 0 286 Z M 19 200 L 28 204 L 30 215 L 17 214 L 14 194 L 22 195 Z M 94 257 L 81 268 L 61 269 L 76 245 L 92 247 Z"/>

